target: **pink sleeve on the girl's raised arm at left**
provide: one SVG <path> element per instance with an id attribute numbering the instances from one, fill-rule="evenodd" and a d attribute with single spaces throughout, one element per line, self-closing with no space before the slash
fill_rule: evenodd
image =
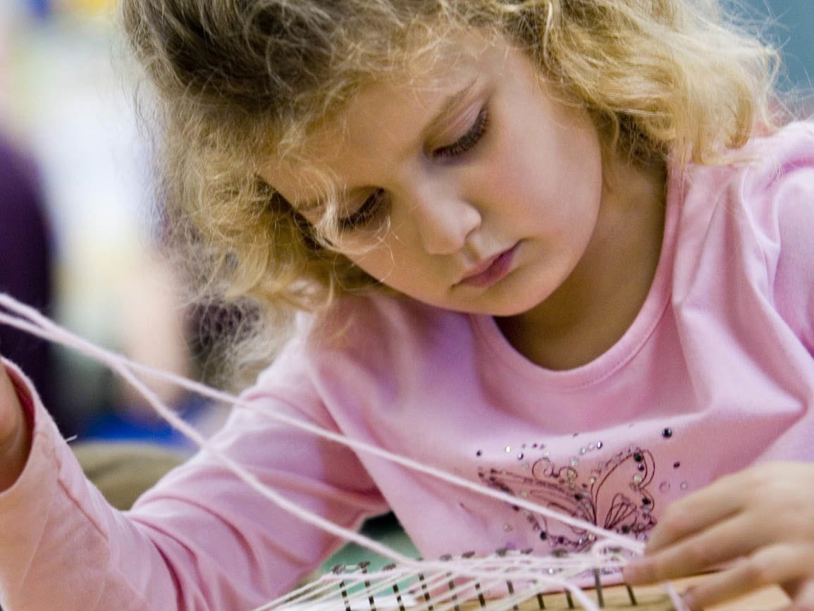
<path id="1" fill-rule="evenodd" d="M 26 387 L 32 451 L 18 481 L 0 494 L 4 609 L 253 609 L 290 590 L 342 543 L 278 508 L 208 451 L 120 512 L 85 479 Z M 355 528 L 386 510 L 352 452 L 268 415 L 279 409 L 303 417 L 299 409 L 261 387 L 244 398 L 210 440 L 217 452 L 340 525 Z"/>

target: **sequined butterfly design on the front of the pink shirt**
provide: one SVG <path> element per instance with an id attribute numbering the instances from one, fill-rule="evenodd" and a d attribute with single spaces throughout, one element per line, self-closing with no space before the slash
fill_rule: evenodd
<path id="1" fill-rule="evenodd" d="M 507 494 L 531 500 L 545 508 L 579 518 L 606 530 L 639 537 L 652 529 L 654 498 L 650 483 L 655 473 L 652 453 L 639 447 L 615 454 L 587 474 L 580 461 L 559 466 L 549 456 L 531 464 L 531 474 L 510 469 L 479 469 L 484 484 Z M 537 539 L 555 550 L 582 552 L 595 539 L 592 533 L 532 513 L 516 505 Z"/>

